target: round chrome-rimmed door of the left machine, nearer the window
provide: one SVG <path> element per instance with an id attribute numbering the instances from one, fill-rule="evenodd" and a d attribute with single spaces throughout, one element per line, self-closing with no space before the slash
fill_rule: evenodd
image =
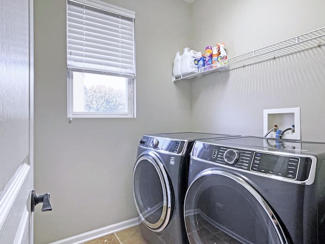
<path id="1" fill-rule="evenodd" d="M 142 222 L 151 230 L 164 230 L 171 218 L 173 193 L 163 163 L 152 151 L 137 160 L 133 193 Z"/>

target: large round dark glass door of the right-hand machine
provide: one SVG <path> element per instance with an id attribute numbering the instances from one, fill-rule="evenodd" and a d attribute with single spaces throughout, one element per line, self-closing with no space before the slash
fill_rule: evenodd
<path id="1" fill-rule="evenodd" d="M 184 215 L 191 244 L 288 243 L 264 198 L 241 177 L 219 169 L 194 178 Z"/>

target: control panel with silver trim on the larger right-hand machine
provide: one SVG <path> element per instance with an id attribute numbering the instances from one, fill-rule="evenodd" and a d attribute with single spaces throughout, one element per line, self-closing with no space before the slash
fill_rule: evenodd
<path id="1" fill-rule="evenodd" d="M 261 175 L 304 181 L 309 177 L 312 160 L 308 157 L 284 155 L 196 142 L 192 157 L 226 167 Z"/>

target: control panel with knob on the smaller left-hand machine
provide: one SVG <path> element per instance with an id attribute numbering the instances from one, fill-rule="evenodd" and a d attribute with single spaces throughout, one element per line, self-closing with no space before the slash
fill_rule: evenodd
<path id="1" fill-rule="evenodd" d="M 185 142 L 180 140 L 143 136 L 139 142 L 139 145 L 159 151 L 163 150 L 174 154 L 180 154 L 183 151 Z"/>

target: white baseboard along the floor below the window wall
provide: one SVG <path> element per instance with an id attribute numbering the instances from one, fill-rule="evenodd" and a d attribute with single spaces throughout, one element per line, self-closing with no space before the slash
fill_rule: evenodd
<path id="1" fill-rule="evenodd" d="M 100 238 L 105 235 L 109 235 L 112 233 L 115 233 L 117 231 L 125 230 L 127 228 L 131 228 L 134 226 L 139 225 L 140 219 L 139 218 L 134 218 L 131 220 L 126 220 L 117 224 L 113 224 L 110 226 L 106 226 L 100 229 L 88 231 L 85 233 L 82 233 L 80 235 L 75 235 L 63 240 L 58 240 L 55 242 L 51 242 L 50 244 L 81 244 L 86 241 L 90 241 L 96 238 Z"/>

